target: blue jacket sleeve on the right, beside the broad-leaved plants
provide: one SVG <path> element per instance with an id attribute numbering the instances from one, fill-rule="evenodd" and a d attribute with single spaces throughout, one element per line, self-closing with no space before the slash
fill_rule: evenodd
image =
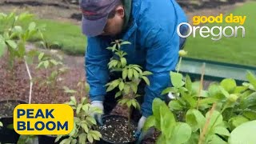
<path id="1" fill-rule="evenodd" d="M 150 86 L 145 88 L 142 115 L 148 117 L 152 114 L 154 98 L 162 98 L 162 90 L 170 86 L 170 71 L 175 70 L 178 62 L 178 34 L 167 34 L 164 30 L 152 30 L 148 35 L 149 48 L 146 52 L 146 70 L 153 74 L 148 76 Z"/>

